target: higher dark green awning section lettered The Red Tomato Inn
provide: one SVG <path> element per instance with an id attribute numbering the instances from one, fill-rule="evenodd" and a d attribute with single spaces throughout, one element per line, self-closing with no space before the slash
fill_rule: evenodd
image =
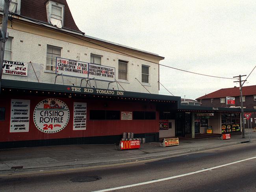
<path id="1" fill-rule="evenodd" d="M 16 92 L 17 90 L 18 92 Z M 1 94 L 12 94 L 14 92 L 15 94 L 33 94 L 39 96 L 72 96 L 72 98 L 89 97 L 126 101 L 136 100 L 158 103 L 176 103 L 177 105 L 180 103 L 180 97 L 177 96 L 2 79 Z"/>

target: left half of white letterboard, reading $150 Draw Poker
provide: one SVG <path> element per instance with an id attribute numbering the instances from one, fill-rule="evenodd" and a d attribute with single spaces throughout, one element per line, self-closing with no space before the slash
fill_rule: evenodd
<path id="1" fill-rule="evenodd" d="M 77 78 L 88 78 L 88 63 L 57 57 L 56 74 Z"/>

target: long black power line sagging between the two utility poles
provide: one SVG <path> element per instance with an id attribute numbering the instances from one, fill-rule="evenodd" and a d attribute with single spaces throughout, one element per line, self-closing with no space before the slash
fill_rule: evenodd
<path id="1" fill-rule="evenodd" d="M 26 18 L 26 19 L 28 19 L 28 20 L 30 20 L 30 21 L 33 21 L 33 22 L 35 22 L 35 23 L 37 23 L 37 24 L 39 24 L 39 25 L 41 25 L 41 26 L 48 27 L 48 26 L 42 24 L 41 22 L 38 22 L 37 20 L 33 20 L 33 19 L 31 19 L 31 18 L 24 17 L 24 16 L 21 16 L 21 15 L 18 15 L 18 14 L 12 14 L 12 15 L 17 15 L 18 17 Z M 103 47 L 103 48 L 112 50 L 112 51 L 114 51 L 114 52 L 121 53 L 121 54 L 127 55 L 127 56 L 129 56 L 129 57 L 133 57 L 133 58 L 136 58 L 136 59 L 141 59 L 141 60 L 143 60 L 143 61 L 147 61 L 147 62 L 150 62 L 150 63 L 154 63 L 154 64 L 156 64 L 156 65 L 165 66 L 165 67 L 172 68 L 172 69 L 175 69 L 175 70 L 180 70 L 180 71 L 183 71 L 183 72 L 188 72 L 188 73 L 197 74 L 197 75 L 202 75 L 202 76 L 207 76 L 207 77 L 212 77 L 212 78 L 235 79 L 235 78 L 225 78 L 225 77 L 220 77 L 220 76 L 211 76 L 211 75 L 206 75 L 206 74 L 191 72 L 191 71 L 183 70 L 183 69 L 179 69 L 179 68 L 174 68 L 174 67 L 171 67 L 171 66 L 167 66 L 167 65 L 160 64 L 160 63 L 152 62 L 152 61 L 149 61 L 149 60 L 147 60 L 147 59 L 142 59 L 142 58 L 140 58 L 140 57 L 135 57 L 134 55 L 126 54 L 126 53 L 124 53 L 124 52 L 111 49 L 111 48 L 109 48 L 109 47 L 106 47 L 106 46 L 97 44 L 97 43 L 95 43 L 95 42 L 88 41 L 88 40 L 86 40 L 86 39 L 83 39 L 83 38 L 81 38 L 81 37 L 77 37 L 76 35 L 72 35 L 72 34 L 70 34 L 70 33 L 68 33 L 68 32 L 61 31 L 61 30 L 59 30 L 59 29 L 54 29 L 54 30 L 59 31 L 60 33 L 64 33 L 64 34 L 66 34 L 66 35 L 70 35 L 71 37 L 75 37 L 75 38 L 81 39 L 81 40 L 83 40 L 83 41 L 89 42 L 89 43 L 91 43 L 91 44 L 95 44 L 95 45 L 97 45 L 97 46 L 100 46 L 100 47 Z"/>

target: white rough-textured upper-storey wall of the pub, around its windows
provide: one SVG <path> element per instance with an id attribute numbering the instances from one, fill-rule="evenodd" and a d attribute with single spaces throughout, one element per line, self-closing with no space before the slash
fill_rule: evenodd
<path id="1" fill-rule="evenodd" d="M 12 61 L 19 62 L 32 62 L 33 67 L 35 69 L 35 73 L 39 78 L 41 83 L 54 83 L 55 74 L 51 73 L 51 71 L 46 71 L 46 50 L 47 44 L 61 47 L 61 57 L 67 59 L 78 60 L 77 56 L 80 54 L 80 61 L 90 62 L 90 55 L 102 55 L 102 65 L 111 66 L 116 68 L 116 79 L 118 80 L 118 60 L 128 61 L 128 81 L 120 80 L 120 84 L 126 91 L 133 92 L 145 92 L 148 93 L 147 90 L 140 85 L 140 83 L 135 79 L 137 78 L 141 82 L 141 65 L 150 66 L 150 75 L 148 84 L 144 83 L 145 87 L 154 94 L 158 94 L 158 65 L 143 61 L 141 59 L 136 59 L 132 57 L 128 57 L 121 54 L 115 54 L 112 52 L 107 52 L 103 50 L 98 50 L 95 48 L 90 48 L 87 46 L 81 46 L 78 44 L 73 44 L 66 41 L 60 41 L 57 39 L 52 39 L 48 37 L 43 37 L 41 35 L 35 35 L 32 33 L 27 33 L 23 31 L 9 29 L 9 36 L 13 37 L 12 41 Z M 23 42 L 20 42 L 23 41 Z M 41 46 L 39 46 L 41 44 Z M 68 52 L 69 50 L 69 52 Z M 108 58 L 108 59 L 107 59 Z M 3 79 L 13 79 L 20 81 L 34 81 L 37 82 L 35 78 L 35 74 L 31 65 L 28 67 L 28 77 L 22 76 L 14 76 L 14 75 L 6 75 L 3 74 Z M 65 85 L 74 85 L 80 86 L 80 78 L 70 78 L 64 77 Z M 85 82 L 85 81 L 84 81 Z M 97 87 L 102 89 L 107 89 L 108 82 L 97 81 Z M 61 77 L 57 78 L 56 84 L 62 84 Z M 85 86 L 86 83 L 83 83 L 82 86 Z M 94 85 L 95 83 L 92 82 Z M 117 90 L 116 83 L 110 84 L 110 87 L 115 87 Z M 120 86 L 119 86 L 120 87 Z M 122 90 L 122 88 L 119 88 Z"/>

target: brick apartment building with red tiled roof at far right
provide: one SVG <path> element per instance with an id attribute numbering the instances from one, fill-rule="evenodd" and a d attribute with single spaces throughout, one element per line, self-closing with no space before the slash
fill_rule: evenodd
<path id="1" fill-rule="evenodd" d="M 234 105 L 226 104 L 227 96 L 235 98 Z M 196 100 L 200 102 L 202 107 L 240 107 L 239 87 L 220 89 L 201 96 Z M 245 109 L 256 109 L 256 85 L 243 87 L 243 107 Z M 256 127 L 256 114 L 252 113 L 251 118 L 252 127 Z M 247 128 L 247 121 L 245 124 Z"/>

